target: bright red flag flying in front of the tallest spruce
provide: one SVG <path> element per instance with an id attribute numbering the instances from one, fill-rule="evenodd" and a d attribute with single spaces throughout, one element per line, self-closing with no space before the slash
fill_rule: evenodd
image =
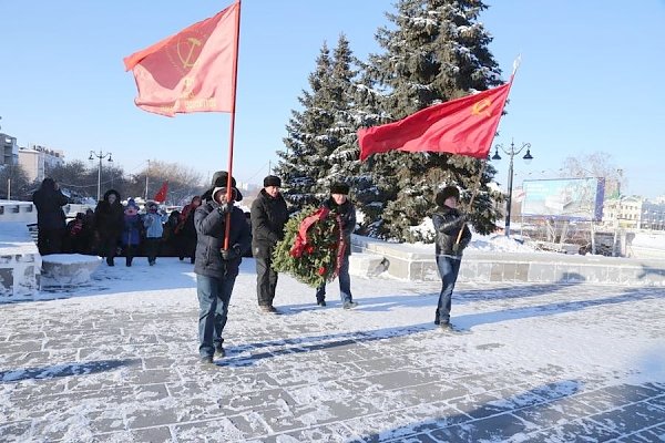
<path id="1" fill-rule="evenodd" d="M 360 159 L 393 150 L 487 158 L 511 83 L 512 76 L 499 87 L 426 107 L 397 122 L 358 130 Z"/>

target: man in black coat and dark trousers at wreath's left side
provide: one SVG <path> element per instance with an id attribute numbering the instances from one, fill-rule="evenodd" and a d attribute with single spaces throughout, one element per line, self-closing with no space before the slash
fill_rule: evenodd
<path id="1" fill-rule="evenodd" d="M 274 175 L 264 178 L 264 187 L 252 203 L 252 249 L 256 260 L 256 293 L 264 312 L 277 312 L 273 306 L 277 272 L 273 270 L 273 251 L 284 238 L 288 220 L 286 202 L 279 193 L 282 179 Z"/>

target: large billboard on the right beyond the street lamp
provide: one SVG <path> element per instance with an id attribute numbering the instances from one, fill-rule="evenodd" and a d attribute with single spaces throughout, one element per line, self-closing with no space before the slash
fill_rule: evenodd
<path id="1" fill-rule="evenodd" d="M 605 178 L 554 178 L 524 181 L 523 216 L 574 220 L 603 218 Z"/>

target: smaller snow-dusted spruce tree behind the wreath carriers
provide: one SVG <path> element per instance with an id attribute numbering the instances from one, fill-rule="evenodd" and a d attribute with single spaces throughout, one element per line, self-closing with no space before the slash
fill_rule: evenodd
<path id="1" fill-rule="evenodd" d="M 285 198 L 299 208 L 326 197 L 332 182 L 367 188 L 360 174 L 356 132 L 360 121 L 354 110 L 359 61 L 346 35 L 340 34 L 332 58 L 326 43 L 309 76 L 310 91 L 299 99 L 304 110 L 291 111 L 286 152 L 277 173 Z"/>

